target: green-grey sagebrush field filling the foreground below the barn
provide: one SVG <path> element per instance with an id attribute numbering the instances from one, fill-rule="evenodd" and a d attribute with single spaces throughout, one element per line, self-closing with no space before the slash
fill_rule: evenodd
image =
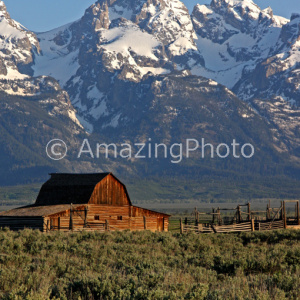
<path id="1" fill-rule="evenodd" d="M 1 299 L 299 299 L 300 231 L 0 230 Z"/>

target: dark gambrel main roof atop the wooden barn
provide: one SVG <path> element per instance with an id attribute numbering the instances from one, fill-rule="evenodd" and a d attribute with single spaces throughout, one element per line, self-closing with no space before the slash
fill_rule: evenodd
<path id="1" fill-rule="evenodd" d="M 87 204 L 95 186 L 111 173 L 68 174 L 54 173 L 43 184 L 35 205 Z M 113 175 L 112 175 L 113 176 Z M 113 176 L 116 178 L 115 176 Z M 118 180 L 116 178 L 116 180 Z M 119 180 L 118 180 L 119 181 Z M 120 181 L 119 181 L 120 182 Z M 121 182 L 120 182 L 121 183 Z M 122 184 L 122 183 L 121 183 Z M 126 187 L 122 184 L 127 193 Z M 127 193 L 128 196 L 128 193 Z M 128 196 L 130 201 L 130 198 Z"/>

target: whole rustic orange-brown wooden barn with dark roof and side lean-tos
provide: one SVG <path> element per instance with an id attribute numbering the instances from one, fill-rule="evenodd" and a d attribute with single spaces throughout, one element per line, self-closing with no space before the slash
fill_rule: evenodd
<path id="1" fill-rule="evenodd" d="M 168 231 L 169 215 L 133 206 L 111 173 L 50 175 L 35 204 L 0 214 L 0 228 Z"/>

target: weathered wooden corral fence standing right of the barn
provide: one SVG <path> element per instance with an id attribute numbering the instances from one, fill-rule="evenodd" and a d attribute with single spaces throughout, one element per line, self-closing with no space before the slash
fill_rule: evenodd
<path id="1" fill-rule="evenodd" d="M 294 203 L 291 210 L 287 205 Z M 224 211 L 226 214 L 224 214 Z M 228 212 L 232 213 L 229 214 Z M 267 205 L 265 211 L 251 210 L 251 204 L 238 205 L 236 208 L 212 209 L 211 213 L 199 212 L 196 208 L 193 218 L 180 218 L 180 232 L 196 233 L 230 233 L 265 231 L 284 228 L 300 229 L 298 200 L 285 200 L 280 207 Z"/>

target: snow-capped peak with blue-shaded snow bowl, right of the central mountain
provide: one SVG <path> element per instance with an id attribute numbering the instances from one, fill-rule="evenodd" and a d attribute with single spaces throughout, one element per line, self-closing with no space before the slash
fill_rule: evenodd
<path id="1" fill-rule="evenodd" d="M 243 75 L 269 57 L 288 20 L 261 10 L 251 0 L 213 0 L 196 5 L 192 19 L 205 68 L 194 73 L 233 88 Z"/>

